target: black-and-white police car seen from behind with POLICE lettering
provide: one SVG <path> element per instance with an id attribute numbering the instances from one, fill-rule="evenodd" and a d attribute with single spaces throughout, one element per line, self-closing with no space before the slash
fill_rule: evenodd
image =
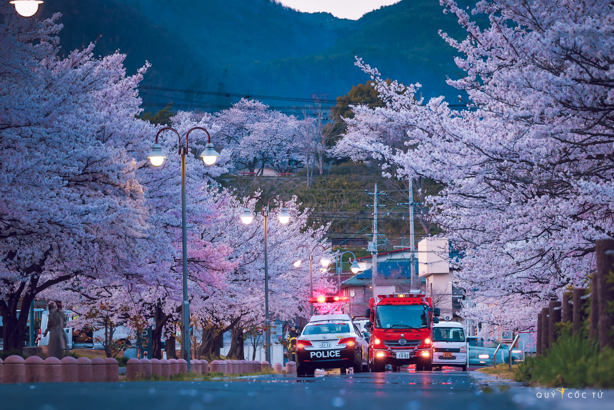
<path id="1" fill-rule="evenodd" d="M 313 376 L 316 369 L 368 371 L 368 352 L 368 342 L 349 315 L 314 315 L 297 337 L 297 374 Z"/>

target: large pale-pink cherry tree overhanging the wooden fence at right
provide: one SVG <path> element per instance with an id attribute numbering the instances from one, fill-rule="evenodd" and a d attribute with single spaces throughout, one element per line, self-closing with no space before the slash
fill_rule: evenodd
<path id="1" fill-rule="evenodd" d="M 593 0 L 480 1 L 481 29 L 454 1 L 441 4 L 468 33 L 441 33 L 464 55 L 466 75 L 448 84 L 467 93 L 467 108 L 425 104 L 419 84 L 387 84 L 359 59 L 387 106 L 355 107 L 337 149 L 438 181 L 430 218 L 465 251 L 456 285 L 478 302 L 461 314 L 530 329 L 546 301 L 586 283 L 595 240 L 614 237 L 614 11 Z M 391 129 L 407 130 L 405 147 L 386 141 Z"/>

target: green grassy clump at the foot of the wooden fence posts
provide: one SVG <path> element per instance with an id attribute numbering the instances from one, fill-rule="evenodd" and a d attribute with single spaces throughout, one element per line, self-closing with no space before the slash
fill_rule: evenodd
<path id="1" fill-rule="evenodd" d="M 515 380 L 551 387 L 614 387 L 614 350 L 599 351 L 581 336 L 561 336 L 548 352 L 527 357 Z"/>

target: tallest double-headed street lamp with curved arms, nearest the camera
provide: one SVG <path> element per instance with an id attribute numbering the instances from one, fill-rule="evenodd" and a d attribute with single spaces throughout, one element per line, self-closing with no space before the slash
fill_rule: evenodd
<path id="1" fill-rule="evenodd" d="M 162 147 L 158 143 L 158 136 L 163 131 L 173 131 L 177 134 L 179 138 L 179 156 L 181 156 L 181 253 L 182 253 L 182 265 L 183 265 L 183 288 L 184 288 L 184 301 L 181 304 L 181 344 L 182 344 L 182 357 L 187 361 L 187 371 L 190 373 L 190 302 L 188 301 L 188 251 L 187 251 L 187 216 L 185 213 L 185 156 L 188 153 L 188 135 L 193 130 L 202 130 L 207 133 L 208 143 L 205 144 L 204 151 L 200 154 L 200 157 L 203 159 L 203 162 L 206 165 L 213 165 L 216 163 L 217 157 L 220 156 L 213 149 L 213 144 L 211 143 L 211 135 L 209 132 L 203 127 L 193 127 L 185 133 L 185 146 L 181 144 L 181 135 L 179 132 L 172 127 L 163 127 L 158 131 L 155 135 L 155 143 L 152 146 L 152 150 L 149 153 L 147 158 L 150 160 L 154 167 L 159 167 L 164 162 L 166 158 L 164 152 L 162 151 Z"/>

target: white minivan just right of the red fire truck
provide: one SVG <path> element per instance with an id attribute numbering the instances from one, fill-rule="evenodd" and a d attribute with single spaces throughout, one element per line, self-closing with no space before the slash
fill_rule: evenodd
<path id="1" fill-rule="evenodd" d="M 433 324 L 433 367 L 454 366 L 467 371 L 467 338 L 461 323 Z"/>

